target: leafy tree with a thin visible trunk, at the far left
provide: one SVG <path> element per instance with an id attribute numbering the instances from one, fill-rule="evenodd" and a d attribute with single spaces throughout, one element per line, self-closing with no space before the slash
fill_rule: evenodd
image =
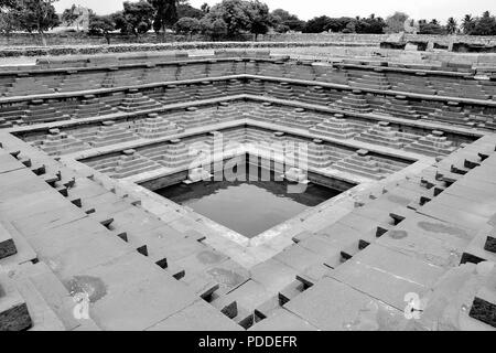
<path id="1" fill-rule="evenodd" d="M 29 33 L 40 33 L 57 26 L 58 15 L 53 3 L 57 0 L 23 0 L 21 9 L 15 14 L 19 28 Z M 44 38 L 43 38 L 43 41 Z M 44 43 L 45 44 L 45 43 Z"/>

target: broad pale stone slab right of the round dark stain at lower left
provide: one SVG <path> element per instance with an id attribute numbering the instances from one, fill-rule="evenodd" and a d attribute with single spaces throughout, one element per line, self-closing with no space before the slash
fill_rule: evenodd
<path id="1" fill-rule="evenodd" d="M 137 253 L 80 271 L 66 287 L 91 290 L 89 313 L 104 330 L 144 330 L 198 300 Z"/>

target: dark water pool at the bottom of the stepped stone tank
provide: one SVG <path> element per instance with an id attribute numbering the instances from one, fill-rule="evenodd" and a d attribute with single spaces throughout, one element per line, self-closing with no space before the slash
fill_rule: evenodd
<path id="1" fill-rule="evenodd" d="M 155 192 L 249 238 L 341 193 L 312 183 L 304 193 L 287 188 L 279 181 L 202 181 Z"/>

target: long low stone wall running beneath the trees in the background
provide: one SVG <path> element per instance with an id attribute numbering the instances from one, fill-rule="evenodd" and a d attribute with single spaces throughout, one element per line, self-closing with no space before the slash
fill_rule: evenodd
<path id="1" fill-rule="evenodd" d="M 387 41 L 389 34 L 356 34 L 356 33 L 287 33 L 287 34 L 267 34 L 258 38 L 261 42 L 336 42 L 336 43 L 363 43 L 379 45 L 380 42 Z M 254 35 L 239 35 L 235 41 L 254 41 Z M 99 45 L 107 44 L 104 36 L 88 36 L 84 33 L 48 33 L 45 34 L 47 45 Z M 187 42 L 187 41 L 208 41 L 204 35 L 157 35 L 148 33 L 140 38 L 133 35 L 112 34 L 112 44 L 126 43 L 170 43 L 170 42 Z M 466 42 L 476 44 L 496 45 L 496 36 L 474 36 L 474 35 L 427 35 L 427 34 L 407 34 L 407 41 L 429 42 L 448 45 L 450 42 Z M 14 45 L 43 45 L 43 41 L 39 34 L 14 33 L 11 35 L 0 36 L 0 46 Z"/>

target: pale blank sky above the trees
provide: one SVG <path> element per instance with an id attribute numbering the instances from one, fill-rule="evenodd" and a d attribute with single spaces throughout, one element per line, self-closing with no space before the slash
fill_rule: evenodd
<path id="1" fill-rule="evenodd" d="M 270 10 L 278 8 L 296 14 L 302 20 L 316 15 L 328 17 L 376 17 L 386 18 L 395 11 L 408 13 L 411 18 L 438 19 L 445 22 L 449 17 L 462 19 L 466 13 L 479 15 L 488 10 L 496 14 L 495 0 L 261 0 Z M 215 4 L 219 0 L 190 0 L 190 3 L 200 8 L 202 3 Z M 57 12 L 69 8 L 73 3 L 95 10 L 99 14 L 108 14 L 122 9 L 122 0 L 60 0 L 55 3 Z"/>

